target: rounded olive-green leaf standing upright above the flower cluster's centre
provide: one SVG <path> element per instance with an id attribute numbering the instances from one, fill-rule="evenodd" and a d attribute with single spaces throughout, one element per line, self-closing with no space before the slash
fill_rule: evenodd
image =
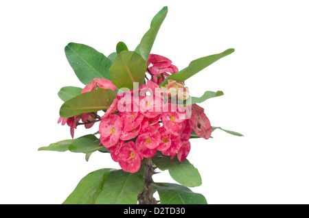
<path id="1" fill-rule="evenodd" d="M 111 82 L 117 88 L 133 89 L 133 82 L 144 84 L 146 61 L 135 51 L 122 51 L 117 54 L 109 73 Z"/>

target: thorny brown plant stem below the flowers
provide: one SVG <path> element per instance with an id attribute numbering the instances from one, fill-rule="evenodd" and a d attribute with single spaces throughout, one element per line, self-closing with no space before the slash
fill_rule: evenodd
<path id="1" fill-rule="evenodd" d="M 144 173 L 144 190 L 142 193 L 139 193 L 137 196 L 137 200 L 139 204 L 158 204 L 159 201 L 157 201 L 153 194 L 156 192 L 152 189 L 150 184 L 154 183 L 152 180 L 152 175 L 155 174 L 155 169 L 157 167 L 152 167 L 151 159 L 147 158 L 145 163 L 145 173 Z"/>

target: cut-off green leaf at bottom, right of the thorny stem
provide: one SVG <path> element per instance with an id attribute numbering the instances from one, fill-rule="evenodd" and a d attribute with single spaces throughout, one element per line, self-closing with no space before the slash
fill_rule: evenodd
<path id="1" fill-rule="evenodd" d="M 202 194 L 180 184 L 157 182 L 151 186 L 158 191 L 161 204 L 207 204 Z"/>

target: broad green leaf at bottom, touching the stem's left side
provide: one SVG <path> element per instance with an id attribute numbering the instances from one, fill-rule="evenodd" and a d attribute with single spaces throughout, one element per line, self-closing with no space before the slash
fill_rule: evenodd
<path id="1" fill-rule="evenodd" d="M 144 189 L 141 170 L 128 173 L 119 169 L 108 175 L 95 204 L 137 204 L 137 195 Z"/>

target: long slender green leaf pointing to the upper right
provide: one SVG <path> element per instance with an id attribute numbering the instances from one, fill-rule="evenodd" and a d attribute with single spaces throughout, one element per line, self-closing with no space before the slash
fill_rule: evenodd
<path id="1" fill-rule="evenodd" d="M 183 69 L 182 71 L 179 71 L 178 73 L 174 73 L 172 75 L 169 75 L 165 78 L 165 80 L 161 83 L 160 86 L 164 86 L 168 83 L 168 80 L 176 80 L 179 82 L 184 82 L 185 80 L 192 77 L 192 75 L 198 73 L 199 71 L 205 69 L 210 64 L 216 62 L 220 58 L 223 58 L 230 53 L 233 53 L 235 51 L 234 49 L 227 49 L 226 51 L 223 51 L 222 53 L 217 53 L 211 56 L 206 56 L 203 58 L 198 58 L 196 60 L 193 60 L 190 62 L 189 66 L 187 68 Z"/>

